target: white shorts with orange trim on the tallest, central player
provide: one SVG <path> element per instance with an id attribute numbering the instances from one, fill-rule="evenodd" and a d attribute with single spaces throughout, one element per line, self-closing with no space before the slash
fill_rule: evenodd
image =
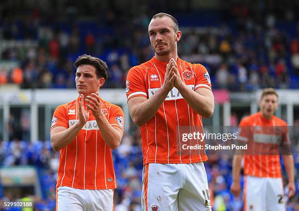
<path id="1" fill-rule="evenodd" d="M 142 211 L 212 211 L 204 164 L 146 164 Z"/>

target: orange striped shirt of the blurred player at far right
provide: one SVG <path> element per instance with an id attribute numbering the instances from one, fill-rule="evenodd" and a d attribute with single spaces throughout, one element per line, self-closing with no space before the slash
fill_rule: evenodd
<path id="1" fill-rule="evenodd" d="M 283 127 L 276 127 L 283 126 Z M 245 117 L 239 124 L 239 141 L 249 141 L 251 152 L 244 155 L 244 175 L 256 177 L 281 177 L 279 160 L 279 147 L 289 143 L 287 136 L 287 123 L 273 116 L 271 119 L 262 117 L 261 112 Z M 277 129 L 279 133 L 275 132 Z M 268 140 L 268 141 L 267 141 Z M 273 141 L 272 143 L 269 140 Z M 270 147 L 269 147 L 270 146 Z M 274 148 L 274 149 L 273 149 Z M 271 154 L 273 150 L 274 153 Z M 270 153 L 270 154 L 267 154 Z"/>

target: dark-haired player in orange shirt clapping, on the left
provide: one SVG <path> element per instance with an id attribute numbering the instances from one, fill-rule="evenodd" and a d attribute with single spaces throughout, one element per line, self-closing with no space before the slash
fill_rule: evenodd
<path id="1" fill-rule="evenodd" d="M 51 124 L 52 147 L 60 150 L 56 209 L 112 211 L 116 181 L 111 149 L 123 136 L 123 111 L 99 95 L 107 80 L 104 61 L 82 55 L 74 65 L 79 97 L 57 107 Z"/>

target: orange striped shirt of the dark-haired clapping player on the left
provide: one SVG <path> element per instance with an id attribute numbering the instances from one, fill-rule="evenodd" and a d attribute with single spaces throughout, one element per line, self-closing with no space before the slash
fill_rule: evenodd
<path id="1" fill-rule="evenodd" d="M 103 99 L 101 99 L 101 107 L 110 125 L 124 130 L 122 109 Z M 57 107 L 53 114 L 51 129 L 57 126 L 69 128 L 79 121 L 78 116 L 79 97 Z M 56 187 L 116 188 L 111 149 L 103 140 L 91 111 L 85 126 L 69 145 L 60 150 L 59 155 Z"/>

